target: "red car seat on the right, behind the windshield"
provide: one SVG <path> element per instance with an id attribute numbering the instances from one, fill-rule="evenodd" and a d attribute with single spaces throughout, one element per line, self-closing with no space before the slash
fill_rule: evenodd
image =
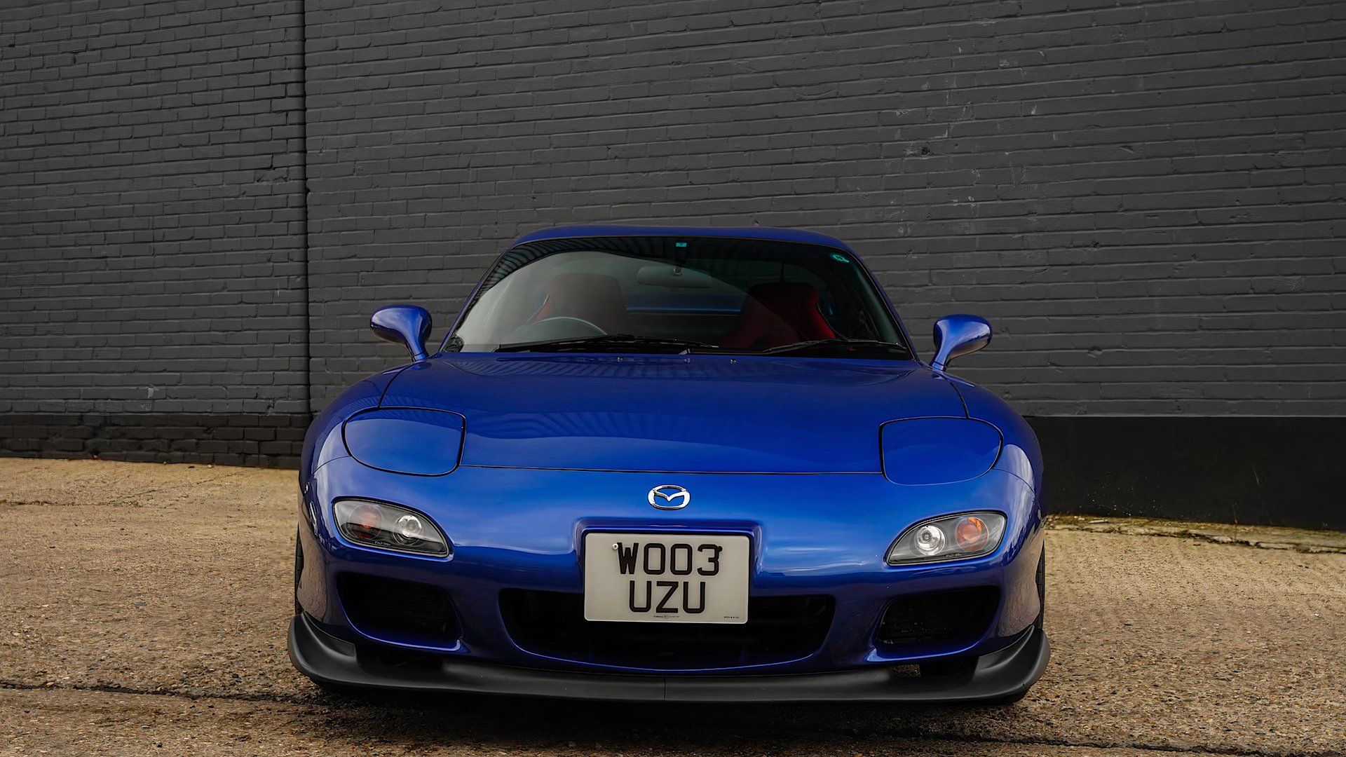
<path id="1" fill-rule="evenodd" d="M 739 322 L 720 338 L 721 348 L 769 349 L 806 339 L 830 339 L 817 290 L 804 282 L 775 282 L 748 290 Z"/>

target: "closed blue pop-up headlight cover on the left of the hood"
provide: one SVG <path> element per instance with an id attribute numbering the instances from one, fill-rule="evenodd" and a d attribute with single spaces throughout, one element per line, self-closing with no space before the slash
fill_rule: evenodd
<path id="1" fill-rule="evenodd" d="M 369 467 L 411 475 L 444 475 L 458 467 L 463 416 L 421 408 L 357 412 L 342 427 L 350 457 Z"/>

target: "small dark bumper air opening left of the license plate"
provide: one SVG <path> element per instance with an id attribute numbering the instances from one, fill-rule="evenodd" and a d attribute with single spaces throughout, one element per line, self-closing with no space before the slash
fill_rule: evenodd
<path id="1" fill-rule="evenodd" d="M 343 572 L 336 577 L 346 617 L 359 630 L 389 641 L 451 645 L 458 616 L 448 594 L 428 583 Z"/>

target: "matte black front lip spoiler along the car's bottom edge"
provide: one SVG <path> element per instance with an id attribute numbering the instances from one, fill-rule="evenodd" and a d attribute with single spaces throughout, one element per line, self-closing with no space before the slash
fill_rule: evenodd
<path id="1" fill-rule="evenodd" d="M 818 673 L 662 676 L 549 671 L 427 655 L 389 664 L 318 629 L 307 616 L 289 625 L 289 659 L 308 678 L 341 686 L 623 702 L 977 702 L 1023 694 L 1047 667 L 1035 626 L 1010 647 L 945 675 L 902 675 L 905 667 Z"/>

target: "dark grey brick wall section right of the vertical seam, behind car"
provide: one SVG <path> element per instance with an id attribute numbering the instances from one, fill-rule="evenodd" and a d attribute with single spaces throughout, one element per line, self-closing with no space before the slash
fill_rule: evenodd
<path id="1" fill-rule="evenodd" d="M 1346 415 L 1346 4 L 311 0 L 315 407 L 516 234 L 805 226 L 1026 414 Z M 436 338 L 443 337 L 436 329 Z"/>

